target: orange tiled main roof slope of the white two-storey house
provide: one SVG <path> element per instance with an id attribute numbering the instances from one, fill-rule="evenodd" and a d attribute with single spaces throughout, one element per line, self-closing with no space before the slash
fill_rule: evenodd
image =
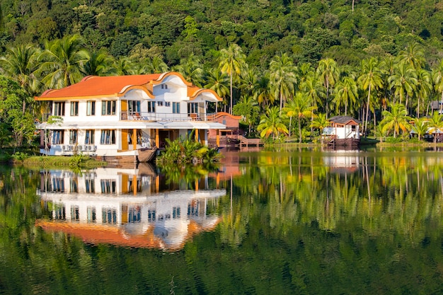
<path id="1" fill-rule="evenodd" d="M 162 74 L 129 76 L 86 76 L 79 83 L 62 88 L 51 89 L 36 97 L 35 100 L 53 100 L 57 98 L 81 98 L 100 96 L 119 96 L 127 88 L 143 88 L 151 92 L 148 83 L 160 78 Z"/>

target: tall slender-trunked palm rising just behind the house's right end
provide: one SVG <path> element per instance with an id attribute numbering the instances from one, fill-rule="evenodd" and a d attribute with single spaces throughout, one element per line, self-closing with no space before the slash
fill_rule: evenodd
<path id="1" fill-rule="evenodd" d="M 220 50 L 219 68 L 222 73 L 229 75 L 231 102 L 229 104 L 229 113 L 232 113 L 232 85 L 234 78 L 241 74 L 247 68 L 246 55 L 243 54 L 241 47 L 232 43 L 227 49 Z"/>

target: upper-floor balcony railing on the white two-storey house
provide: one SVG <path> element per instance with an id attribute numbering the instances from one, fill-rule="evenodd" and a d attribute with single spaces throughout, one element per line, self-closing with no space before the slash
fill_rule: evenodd
<path id="1" fill-rule="evenodd" d="M 121 120 L 130 121 L 214 121 L 213 114 L 171 114 L 166 112 L 121 112 Z"/>

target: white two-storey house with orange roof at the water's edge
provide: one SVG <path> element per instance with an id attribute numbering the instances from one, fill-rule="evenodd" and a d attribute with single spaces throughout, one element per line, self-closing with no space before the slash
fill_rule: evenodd
<path id="1" fill-rule="evenodd" d="M 35 100 L 49 102 L 48 117 L 61 119 L 38 126 L 40 153 L 47 155 L 84 153 L 107 161 L 144 161 L 148 148 L 163 146 L 165 139 L 194 131 L 195 140 L 207 144 L 209 129 L 219 134 L 226 128 L 207 113 L 208 103 L 222 98 L 176 72 L 86 76 Z"/>

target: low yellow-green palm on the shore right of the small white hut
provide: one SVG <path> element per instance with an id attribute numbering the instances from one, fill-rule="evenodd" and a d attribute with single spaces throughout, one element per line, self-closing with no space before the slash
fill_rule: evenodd
<path id="1" fill-rule="evenodd" d="M 400 130 L 405 132 L 410 129 L 409 121 L 412 119 L 408 116 L 408 110 L 401 103 L 389 103 L 389 108 L 391 110 L 382 112 L 384 119 L 381 120 L 380 124 L 383 126 L 383 132 L 393 130 L 393 137 L 395 138 L 396 134 L 400 134 Z"/>

